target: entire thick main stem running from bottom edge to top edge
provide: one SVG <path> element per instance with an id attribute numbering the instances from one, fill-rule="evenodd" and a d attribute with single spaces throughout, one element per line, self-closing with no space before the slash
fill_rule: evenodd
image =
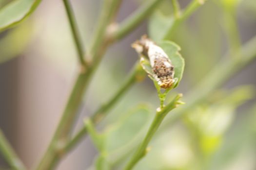
<path id="1" fill-rule="evenodd" d="M 117 1 L 119 0 L 112 0 L 111 2 L 114 4 Z M 104 17 L 107 21 L 110 21 L 108 17 L 114 16 L 114 13 L 111 13 L 112 15 L 109 15 L 109 13 L 107 13 L 108 12 L 107 8 L 112 7 L 112 3 L 110 3 L 109 0 L 105 0 L 104 5 L 102 7 L 103 12 L 101 13 L 101 18 L 103 18 L 102 16 L 107 16 L 107 17 Z M 106 20 L 101 19 L 100 22 L 102 23 L 98 24 L 100 26 L 100 29 L 98 30 L 101 30 L 103 33 L 105 33 L 105 29 L 109 24 L 108 22 L 106 22 Z M 101 34 L 101 32 L 97 32 L 94 38 L 98 38 L 99 37 L 98 34 Z M 102 48 L 94 49 L 95 51 L 91 51 L 91 54 L 93 54 L 93 56 L 94 55 L 97 56 L 94 58 L 101 58 L 106 48 L 106 46 L 103 45 L 104 38 L 100 37 L 97 40 L 93 40 L 93 42 L 97 42 L 97 46 L 101 46 Z M 94 63 L 97 63 L 97 62 L 94 62 Z M 74 120 L 77 116 L 80 103 L 87 89 L 90 78 L 94 73 L 94 70 L 97 68 L 97 66 L 98 66 L 97 64 L 91 65 L 86 70 L 83 67 L 81 67 L 81 71 L 73 87 L 73 90 L 67 102 L 64 113 L 60 119 L 58 128 L 51 140 L 51 143 L 46 153 L 43 155 L 43 158 L 41 159 L 37 167 L 37 170 L 53 169 L 56 166 L 56 164 L 59 162 L 60 158 L 65 154 L 64 152 L 65 145 L 68 142 L 68 139 L 70 137 L 70 132 L 72 130 Z"/>

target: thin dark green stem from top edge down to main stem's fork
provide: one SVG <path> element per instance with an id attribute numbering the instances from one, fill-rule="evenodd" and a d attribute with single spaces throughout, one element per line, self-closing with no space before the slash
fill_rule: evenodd
<path id="1" fill-rule="evenodd" d="M 81 41 L 80 36 L 79 36 L 79 30 L 78 30 L 78 26 L 76 24 L 76 20 L 75 20 L 75 17 L 74 17 L 72 6 L 71 6 L 69 0 L 63 0 L 63 3 L 64 3 L 64 6 L 65 6 L 65 9 L 66 9 L 66 13 L 67 13 L 67 16 L 68 16 L 70 28 L 71 28 L 73 38 L 74 38 L 74 41 L 75 41 L 75 45 L 76 45 L 76 48 L 77 48 L 80 64 L 87 67 L 87 63 L 84 61 L 84 58 L 83 58 L 84 57 L 83 45 L 82 45 L 82 41 Z"/>

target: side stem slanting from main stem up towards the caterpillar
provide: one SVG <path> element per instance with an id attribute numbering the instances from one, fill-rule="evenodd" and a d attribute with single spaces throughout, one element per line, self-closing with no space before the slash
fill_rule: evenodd
<path id="1" fill-rule="evenodd" d="M 120 100 L 121 97 L 138 81 L 145 77 L 145 72 L 137 63 L 133 68 L 130 76 L 125 80 L 124 84 L 120 86 L 114 96 L 105 104 L 102 104 L 98 110 L 93 114 L 93 123 L 98 123 L 106 116 L 106 113 Z M 76 144 L 87 134 L 85 126 L 83 126 L 79 132 L 67 143 L 65 146 L 65 152 L 71 150 Z"/>

